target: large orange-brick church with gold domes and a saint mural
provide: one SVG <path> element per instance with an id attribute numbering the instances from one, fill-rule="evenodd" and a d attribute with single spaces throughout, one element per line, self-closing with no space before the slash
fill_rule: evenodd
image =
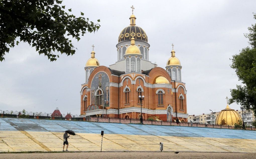
<path id="1" fill-rule="evenodd" d="M 163 59 L 167 61 L 165 69 L 149 61 L 147 34 L 136 25 L 131 8 L 130 25 L 118 36 L 115 64 L 101 66 L 92 49 L 84 67 L 80 113 L 89 117 L 140 119 L 142 116 L 144 120 L 187 122 L 187 90 L 182 82 L 180 61 L 174 50 L 169 59 Z"/>

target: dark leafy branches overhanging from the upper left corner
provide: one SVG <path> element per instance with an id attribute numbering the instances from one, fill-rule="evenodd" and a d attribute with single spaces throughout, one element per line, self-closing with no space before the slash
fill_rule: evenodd
<path id="1" fill-rule="evenodd" d="M 75 53 L 71 38 L 79 41 L 86 32 L 98 31 L 98 23 L 76 18 L 70 14 L 71 9 L 65 12 L 65 6 L 59 6 L 61 3 L 58 0 L 0 1 L 0 61 L 20 41 L 28 42 L 39 55 L 56 61 L 59 57 L 56 51 L 67 56 Z"/>

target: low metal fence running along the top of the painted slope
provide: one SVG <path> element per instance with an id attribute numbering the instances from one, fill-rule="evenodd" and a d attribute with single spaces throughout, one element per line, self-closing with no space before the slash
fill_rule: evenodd
<path id="1" fill-rule="evenodd" d="M 123 123 L 123 124 L 140 124 L 140 119 L 123 119 L 123 118 L 101 118 L 101 117 L 80 117 L 79 115 L 72 114 L 52 114 L 42 112 L 18 112 L 0 110 L 0 117 L 11 118 L 32 118 L 32 119 L 55 119 L 55 120 L 75 120 L 75 121 L 90 121 L 90 122 L 109 122 L 109 123 Z M 209 128 L 227 128 L 235 129 L 234 125 L 218 125 L 218 124 L 206 124 L 206 123 L 191 123 L 191 122 L 172 122 L 172 121 L 154 121 L 143 120 L 143 124 L 149 125 L 169 125 L 169 126 L 189 126 L 189 127 L 209 127 Z M 255 126 L 246 126 L 247 130 L 256 130 Z"/>

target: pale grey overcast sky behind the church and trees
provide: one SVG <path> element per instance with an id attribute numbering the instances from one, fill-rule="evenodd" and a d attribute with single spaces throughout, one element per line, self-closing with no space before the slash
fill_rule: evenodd
<path id="1" fill-rule="evenodd" d="M 249 46 L 244 33 L 256 23 L 256 1 L 71 1 L 66 10 L 97 22 L 100 30 L 73 40 L 73 56 L 61 55 L 50 62 L 28 44 L 11 48 L 0 63 L 0 110 L 80 114 L 80 90 L 84 67 L 92 45 L 100 65 L 117 61 L 116 44 L 130 24 L 134 6 L 136 24 L 143 28 L 150 44 L 149 60 L 165 69 L 174 44 L 182 65 L 187 89 L 188 114 L 210 113 L 226 107 L 226 96 L 238 81 L 230 68 L 232 55 Z M 231 104 L 232 109 L 240 109 Z"/>

